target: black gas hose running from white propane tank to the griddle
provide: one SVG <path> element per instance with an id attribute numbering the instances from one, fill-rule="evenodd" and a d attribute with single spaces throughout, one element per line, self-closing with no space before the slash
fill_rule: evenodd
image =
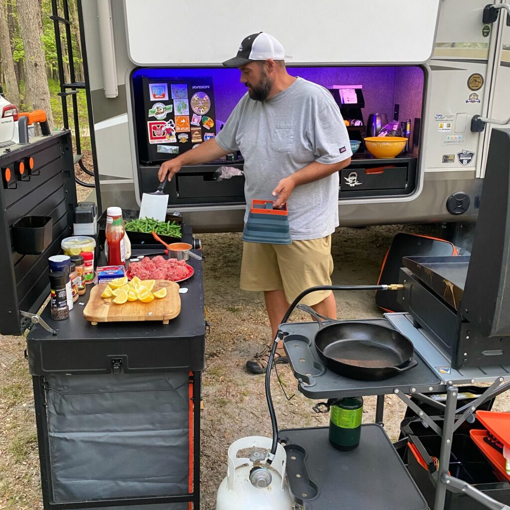
<path id="1" fill-rule="evenodd" d="M 285 316 L 282 320 L 282 324 L 285 324 L 289 317 L 291 316 L 292 312 L 296 308 L 297 303 L 301 301 L 301 299 L 312 293 L 319 290 L 399 290 L 402 289 L 402 285 L 319 285 L 317 287 L 310 287 L 310 289 L 303 290 L 301 294 L 299 294 L 294 301 L 292 301 L 292 304 L 290 305 L 289 309 L 285 313 Z M 280 338 L 281 337 L 281 338 Z M 274 354 L 276 352 L 276 347 L 278 345 L 278 341 L 283 340 L 283 335 L 280 331 L 276 333 L 276 336 L 273 340 L 273 346 L 271 348 L 271 353 L 269 354 L 269 361 L 267 364 L 267 370 L 266 370 L 266 400 L 267 400 L 267 406 L 269 407 L 269 416 L 271 417 L 271 426 L 273 428 L 273 443 L 271 445 L 271 454 L 268 456 L 267 463 L 271 464 L 274 459 L 274 455 L 276 454 L 276 447 L 278 445 L 278 424 L 276 421 L 276 414 L 274 413 L 274 406 L 273 406 L 273 400 L 271 398 L 271 369 L 273 366 L 273 360 L 274 360 Z"/>

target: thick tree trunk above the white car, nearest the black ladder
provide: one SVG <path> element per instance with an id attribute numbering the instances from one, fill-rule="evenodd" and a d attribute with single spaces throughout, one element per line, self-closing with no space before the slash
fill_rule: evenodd
<path id="1" fill-rule="evenodd" d="M 49 87 L 46 78 L 44 53 L 39 31 L 33 30 L 34 27 L 39 27 L 41 22 L 39 3 L 38 0 L 17 0 L 16 7 L 25 50 L 25 74 L 27 77 L 25 80 L 25 91 L 30 91 L 32 101 L 32 105 L 27 106 L 44 110 L 50 126 L 49 129 L 53 130 L 53 113 L 49 103 Z"/>

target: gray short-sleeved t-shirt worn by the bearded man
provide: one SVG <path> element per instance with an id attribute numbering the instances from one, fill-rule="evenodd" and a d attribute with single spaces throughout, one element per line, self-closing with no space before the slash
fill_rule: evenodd
<path id="1" fill-rule="evenodd" d="M 325 88 L 302 78 L 261 103 L 246 93 L 216 137 L 223 150 L 244 157 L 244 196 L 274 200 L 278 182 L 317 161 L 333 164 L 352 156 L 340 109 Z M 292 239 L 318 239 L 338 226 L 339 175 L 296 186 L 287 207 Z"/>

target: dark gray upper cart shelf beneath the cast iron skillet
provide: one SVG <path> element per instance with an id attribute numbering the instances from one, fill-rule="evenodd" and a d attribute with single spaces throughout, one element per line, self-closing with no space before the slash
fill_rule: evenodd
<path id="1" fill-rule="evenodd" d="M 352 322 L 352 321 L 349 321 Z M 369 322 L 392 327 L 386 319 Z M 439 376 L 415 352 L 418 365 L 395 377 L 380 381 L 360 381 L 342 377 L 322 364 L 314 345 L 318 330 L 316 322 L 288 323 L 280 326 L 284 332 L 284 348 L 298 380 L 299 391 L 308 398 L 342 398 L 347 396 L 388 395 L 396 389 L 403 393 L 443 391 L 446 387 Z M 413 390 L 414 389 L 414 390 Z"/>

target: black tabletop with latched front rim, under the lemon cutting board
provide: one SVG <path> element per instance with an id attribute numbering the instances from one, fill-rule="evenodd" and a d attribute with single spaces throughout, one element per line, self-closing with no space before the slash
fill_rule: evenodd
<path id="1" fill-rule="evenodd" d="M 146 253 L 147 248 L 134 250 L 133 254 L 137 251 Z M 37 375 L 110 373 L 112 361 L 108 356 L 118 341 L 123 342 L 124 351 L 127 349 L 122 352 L 125 354 L 122 368 L 126 373 L 202 370 L 206 330 L 202 267 L 193 259 L 187 264 L 195 274 L 180 284 L 188 292 L 180 294 L 181 313 L 167 325 L 162 321 L 134 321 L 101 322 L 93 326 L 83 318 L 92 285 L 87 285 L 87 292 L 74 303 L 69 319 L 52 320 L 48 305 L 41 318 L 57 331 L 57 336 L 40 325 L 32 329 L 27 338 L 30 372 Z"/>

